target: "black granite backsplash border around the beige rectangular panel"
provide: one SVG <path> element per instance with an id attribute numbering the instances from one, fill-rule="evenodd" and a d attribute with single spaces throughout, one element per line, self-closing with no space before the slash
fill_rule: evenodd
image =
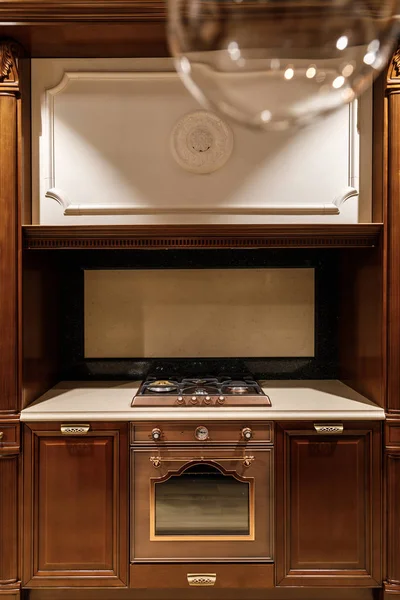
<path id="1" fill-rule="evenodd" d="M 64 255 L 63 379 L 141 379 L 149 372 L 251 372 L 265 379 L 337 378 L 338 263 L 332 250 L 120 250 Z M 315 356 L 310 358 L 131 359 L 84 357 L 85 269 L 315 269 Z"/>

